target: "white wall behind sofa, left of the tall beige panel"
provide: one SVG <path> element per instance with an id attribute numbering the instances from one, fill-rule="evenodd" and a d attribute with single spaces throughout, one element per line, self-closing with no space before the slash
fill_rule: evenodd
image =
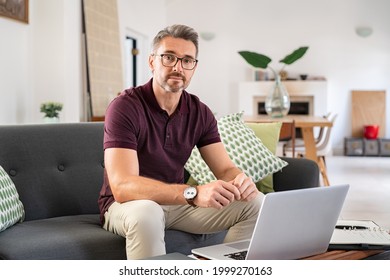
<path id="1" fill-rule="evenodd" d="M 29 24 L 0 17 L 0 124 L 42 122 L 47 101 L 64 104 L 64 121 L 79 121 L 80 1 L 29 2 Z"/>

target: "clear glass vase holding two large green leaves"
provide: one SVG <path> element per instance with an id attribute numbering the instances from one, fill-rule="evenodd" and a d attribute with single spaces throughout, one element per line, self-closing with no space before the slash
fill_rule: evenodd
<path id="1" fill-rule="evenodd" d="M 282 118 L 290 110 L 290 96 L 280 76 L 275 75 L 275 84 L 265 99 L 265 111 L 272 118 Z"/>

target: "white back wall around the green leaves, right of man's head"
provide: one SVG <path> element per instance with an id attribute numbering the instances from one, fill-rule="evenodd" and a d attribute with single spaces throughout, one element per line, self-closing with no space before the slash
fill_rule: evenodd
<path id="1" fill-rule="evenodd" d="M 257 51 L 276 62 L 297 47 L 309 46 L 306 56 L 286 70 L 292 76 L 326 77 L 328 109 L 339 114 L 333 143 L 341 152 L 344 137 L 351 135 L 351 90 L 390 92 L 388 11 L 388 0 L 171 0 L 167 19 L 168 24 L 216 34 L 214 40 L 200 42 L 200 63 L 189 90 L 219 116 L 242 109 L 238 84 L 250 78 L 237 51 Z M 373 35 L 358 37 L 355 27 L 360 25 L 371 26 Z M 389 116 L 388 94 L 387 120 Z M 390 121 L 386 132 L 390 137 Z"/>

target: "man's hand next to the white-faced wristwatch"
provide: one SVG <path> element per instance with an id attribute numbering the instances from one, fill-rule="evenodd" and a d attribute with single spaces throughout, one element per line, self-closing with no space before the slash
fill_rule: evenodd
<path id="1" fill-rule="evenodd" d="M 231 183 L 217 180 L 198 186 L 194 202 L 199 207 L 222 209 L 235 200 L 240 200 L 240 191 Z"/>

